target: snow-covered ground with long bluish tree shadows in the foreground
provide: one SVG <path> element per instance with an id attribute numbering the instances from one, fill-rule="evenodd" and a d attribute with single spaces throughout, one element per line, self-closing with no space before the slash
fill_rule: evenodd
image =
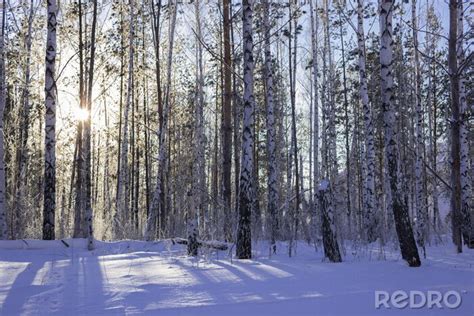
<path id="1" fill-rule="evenodd" d="M 200 259 L 169 241 L 0 241 L 0 315 L 474 315 L 474 251 L 428 248 L 420 268 L 394 250 L 348 251 L 322 261 L 302 242 L 288 258 L 285 244 L 254 260 L 228 252 Z M 349 247 L 347 247 L 349 248 Z M 374 291 L 458 291 L 456 310 L 375 309 Z"/>

